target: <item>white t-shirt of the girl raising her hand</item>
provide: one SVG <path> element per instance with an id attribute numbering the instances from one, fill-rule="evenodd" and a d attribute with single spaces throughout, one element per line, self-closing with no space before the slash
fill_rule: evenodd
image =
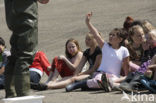
<path id="1" fill-rule="evenodd" d="M 128 56 L 129 51 L 127 48 L 121 46 L 119 49 L 113 49 L 105 42 L 102 47 L 102 61 L 98 71 L 103 71 L 120 77 L 122 61 Z"/>

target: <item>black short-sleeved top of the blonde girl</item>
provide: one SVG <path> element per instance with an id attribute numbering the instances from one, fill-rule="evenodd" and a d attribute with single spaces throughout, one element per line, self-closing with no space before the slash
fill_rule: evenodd
<path id="1" fill-rule="evenodd" d="M 102 54 L 102 51 L 101 51 L 101 48 L 100 47 L 96 47 L 95 48 L 95 51 L 94 53 L 90 54 L 90 48 L 89 49 L 86 49 L 84 52 L 83 52 L 83 56 L 85 56 L 89 62 L 89 69 L 92 68 L 92 66 L 94 65 L 95 63 L 95 60 L 96 60 L 96 56 L 97 55 L 101 55 Z"/>

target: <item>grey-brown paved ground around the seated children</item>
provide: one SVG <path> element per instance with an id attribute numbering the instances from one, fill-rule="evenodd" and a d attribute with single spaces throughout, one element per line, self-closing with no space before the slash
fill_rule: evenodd
<path id="1" fill-rule="evenodd" d="M 126 16 L 134 19 L 148 19 L 156 26 L 156 0 L 51 0 L 47 5 L 39 4 L 39 45 L 49 61 L 54 56 L 64 54 L 64 44 L 68 38 L 75 38 L 85 50 L 86 13 L 93 11 L 93 24 L 102 32 L 107 40 L 107 34 L 115 27 L 122 27 Z M 6 27 L 3 0 L 0 0 L 0 36 L 9 45 L 11 32 Z M 42 81 L 46 80 L 46 76 Z M 100 91 L 102 92 L 102 91 Z M 118 103 L 122 94 L 93 92 L 65 93 L 64 89 L 43 92 L 32 91 L 32 94 L 45 95 L 45 103 Z M 0 91 L 0 98 L 4 91 Z M 156 97 L 155 97 L 156 101 Z M 125 103 L 125 101 L 121 101 Z M 1 102 L 0 102 L 1 103 Z M 154 102 L 153 102 L 154 103 Z"/>

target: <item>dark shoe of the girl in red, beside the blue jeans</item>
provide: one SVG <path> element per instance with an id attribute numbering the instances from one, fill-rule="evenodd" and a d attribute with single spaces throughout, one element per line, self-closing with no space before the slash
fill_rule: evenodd
<path id="1" fill-rule="evenodd" d="M 43 83 L 32 83 L 31 82 L 30 86 L 31 86 L 31 89 L 39 90 L 39 91 L 48 89 L 48 86 L 46 84 L 43 84 Z"/>

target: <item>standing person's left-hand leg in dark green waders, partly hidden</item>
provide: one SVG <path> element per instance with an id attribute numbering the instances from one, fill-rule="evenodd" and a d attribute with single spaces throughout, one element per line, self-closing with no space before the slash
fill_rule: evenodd
<path id="1" fill-rule="evenodd" d="M 8 28 L 10 30 L 13 29 L 13 20 L 14 20 L 14 13 L 12 12 L 13 10 L 13 1 L 12 0 L 5 0 L 5 13 L 6 13 L 6 22 L 8 25 Z M 11 38 L 14 36 L 12 35 Z M 14 51 L 13 48 L 14 45 L 11 44 L 10 40 L 10 45 L 11 45 L 11 52 Z M 13 77 L 13 72 L 14 72 L 14 64 L 16 62 L 16 59 L 14 57 L 14 54 L 11 54 L 11 56 L 8 57 L 8 64 L 5 68 L 5 92 L 6 92 L 6 98 L 9 97 L 15 97 L 15 88 L 14 88 L 14 77 Z"/>

